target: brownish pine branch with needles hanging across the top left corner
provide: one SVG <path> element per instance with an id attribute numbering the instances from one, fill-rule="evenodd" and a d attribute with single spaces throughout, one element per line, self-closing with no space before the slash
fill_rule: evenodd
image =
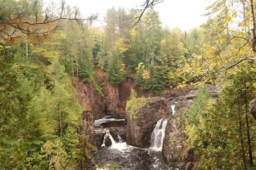
<path id="1" fill-rule="evenodd" d="M 65 1 L 60 3 L 60 10 L 56 6 L 50 6 L 43 10 L 42 2 L 33 1 L 14 1 L 1 0 L 0 4 L 0 37 L 3 42 L 14 44 L 22 35 L 28 36 L 34 41 L 42 37 L 49 36 L 49 33 L 55 30 L 59 21 L 70 20 L 83 24 L 84 21 L 93 21 L 97 15 L 91 15 L 87 18 L 81 18 L 79 9 L 73 10 L 72 17 L 66 17 Z M 51 11 L 58 11 L 53 14 Z"/>

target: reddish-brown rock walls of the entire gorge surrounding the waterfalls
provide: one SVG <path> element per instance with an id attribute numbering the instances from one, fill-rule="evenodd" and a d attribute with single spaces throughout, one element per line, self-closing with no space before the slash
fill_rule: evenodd
<path id="1" fill-rule="evenodd" d="M 122 144 L 122 147 L 125 146 L 126 149 L 150 148 L 152 133 L 158 121 L 163 119 L 166 120 L 166 127 L 163 141 L 161 141 L 163 146 L 160 148 L 160 157 L 164 163 L 159 163 L 159 165 L 169 165 L 170 169 L 192 169 L 198 158 L 191 149 L 185 146 L 186 135 L 181 127 L 183 113 L 192 105 L 197 90 L 170 90 L 169 93 L 157 96 L 140 91 L 131 78 L 127 78 L 119 86 L 113 86 L 107 82 L 103 71 L 98 69 L 96 73 L 103 87 L 103 95 L 90 83 L 77 81 L 74 86 L 79 103 L 85 110 L 82 130 L 89 135 L 90 142 L 97 146 L 99 154 L 103 145 L 110 147 L 113 144 L 119 144 L 118 147 L 120 147 Z M 137 119 L 131 118 L 129 110 L 125 111 L 131 88 L 136 89 L 139 96 L 147 97 L 145 105 L 138 112 Z M 215 86 L 209 85 L 207 90 L 213 97 L 217 96 Z M 137 149 L 136 154 L 139 153 L 140 150 Z M 151 157 L 152 151 L 149 150 L 144 154 L 145 158 Z M 97 160 L 97 153 L 94 155 Z"/>

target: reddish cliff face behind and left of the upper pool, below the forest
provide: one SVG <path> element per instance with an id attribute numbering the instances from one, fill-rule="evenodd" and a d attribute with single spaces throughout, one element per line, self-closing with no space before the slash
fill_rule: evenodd
<path id="1" fill-rule="evenodd" d="M 75 81 L 73 86 L 79 104 L 84 109 L 82 129 L 85 134 L 90 136 L 91 143 L 97 146 L 100 142 L 96 141 L 98 137 L 94 132 L 94 120 L 103 118 L 105 115 L 125 115 L 126 101 L 130 97 L 132 88 L 137 91 L 138 97 L 149 97 L 151 93 L 140 91 L 131 78 L 127 78 L 119 86 L 113 86 L 107 81 L 106 72 L 99 67 L 95 67 L 95 74 L 97 83 L 102 87 L 104 97 L 100 96 L 92 83 Z M 101 136 L 98 139 L 101 139 Z"/>

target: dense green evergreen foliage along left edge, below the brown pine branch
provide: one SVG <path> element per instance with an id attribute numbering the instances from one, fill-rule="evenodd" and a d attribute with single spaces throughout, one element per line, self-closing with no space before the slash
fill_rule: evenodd
<path id="1" fill-rule="evenodd" d="M 22 168 L 26 157 L 41 145 L 40 104 L 35 100 L 38 84 L 25 77 L 15 63 L 19 51 L 0 48 L 0 164 L 6 169 Z"/>

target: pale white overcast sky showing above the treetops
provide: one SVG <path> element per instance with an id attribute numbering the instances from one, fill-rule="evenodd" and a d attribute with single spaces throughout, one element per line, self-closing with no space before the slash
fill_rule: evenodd
<path id="1" fill-rule="evenodd" d="M 46 0 L 50 1 L 50 0 Z M 59 2 L 59 0 L 54 0 Z M 99 13 L 99 22 L 96 26 L 103 25 L 103 17 L 109 8 L 118 9 L 119 7 L 127 10 L 142 5 L 145 0 L 66 0 L 67 4 L 77 5 L 84 17 L 91 13 Z M 209 4 L 207 0 L 164 0 L 163 3 L 156 5 L 156 10 L 163 26 L 169 28 L 178 27 L 185 31 L 200 26 L 206 21 L 201 17 L 205 13 L 205 8 Z"/>

